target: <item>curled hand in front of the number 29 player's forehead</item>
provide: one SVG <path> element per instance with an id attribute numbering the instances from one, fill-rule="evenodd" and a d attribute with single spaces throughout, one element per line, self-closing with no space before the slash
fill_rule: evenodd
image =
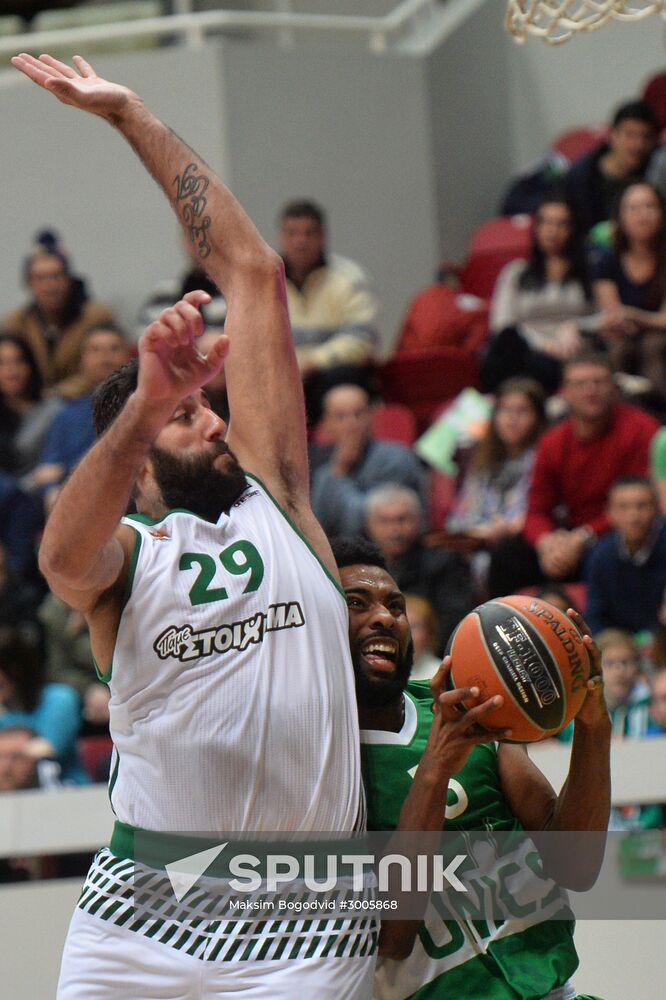
<path id="1" fill-rule="evenodd" d="M 220 336 L 206 356 L 196 338 L 204 329 L 200 307 L 210 302 L 207 292 L 188 292 L 151 323 L 139 341 L 138 391 L 152 403 L 176 405 L 214 378 L 229 350 L 229 338 Z"/>

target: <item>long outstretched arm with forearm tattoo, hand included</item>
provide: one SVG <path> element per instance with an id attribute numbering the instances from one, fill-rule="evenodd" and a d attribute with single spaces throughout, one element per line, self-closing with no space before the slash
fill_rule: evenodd
<path id="1" fill-rule="evenodd" d="M 50 56 L 12 62 L 64 104 L 113 125 L 164 190 L 227 300 L 230 447 L 298 513 L 308 495 L 305 418 L 282 261 L 201 157 L 127 87 L 101 79 L 80 56 L 76 69 Z"/>

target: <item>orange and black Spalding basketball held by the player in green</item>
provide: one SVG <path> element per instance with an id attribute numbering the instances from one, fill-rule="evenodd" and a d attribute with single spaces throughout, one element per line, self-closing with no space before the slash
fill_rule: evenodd
<path id="1" fill-rule="evenodd" d="M 503 696 L 483 725 L 511 729 L 512 743 L 555 736 L 583 704 L 587 648 L 571 619 L 547 601 L 511 595 L 481 604 L 460 622 L 447 652 L 450 688 L 478 687 L 479 701 Z"/>

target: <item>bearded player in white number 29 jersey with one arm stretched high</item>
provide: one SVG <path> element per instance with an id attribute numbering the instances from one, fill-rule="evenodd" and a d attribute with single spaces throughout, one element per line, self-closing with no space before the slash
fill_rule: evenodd
<path id="1" fill-rule="evenodd" d="M 126 87 L 80 57 L 76 69 L 49 56 L 13 62 L 124 136 L 228 304 L 225 335 L 206 357 L 196 345 L 205 293 L 148 327 L 138 364 L 102 387 L 104 433 L 44 533 L 42 569 L 86 615 L 111 688 L 115 747 L 117 822 L 75 911 L 58 996 L 369 997 L 372 921 L 188 920 L 188 897 L 176 905 L 159 865 L 148 874 L 160 889 L 138 914 L 146 836 L 164 858 L 174 831 L 215 840 L 362 825 L 347 612 L 308 502 L 282 261 Z M 230 428 L 202 393 L 223 363 Z M 125 517 L 130 498 L 138 513 Z"/>

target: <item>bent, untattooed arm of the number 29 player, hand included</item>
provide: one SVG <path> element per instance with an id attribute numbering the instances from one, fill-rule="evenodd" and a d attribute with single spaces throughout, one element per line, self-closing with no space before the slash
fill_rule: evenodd
<path id="1" fill-rule="evenodd" d="M 208 300 L 205 292 L 190 292 L 148 327 L 139 341 L 136 391 L 65 483 L 47 522 L 42 572 L 51 589 L 89 620 L 102 595 L 122 587 L 133 533 L 118 522 L 153 441 L 178 403 L 224 360 L 226 337 L 205 358 L 196 349 L 203 327 L 198 307 Z"/>

